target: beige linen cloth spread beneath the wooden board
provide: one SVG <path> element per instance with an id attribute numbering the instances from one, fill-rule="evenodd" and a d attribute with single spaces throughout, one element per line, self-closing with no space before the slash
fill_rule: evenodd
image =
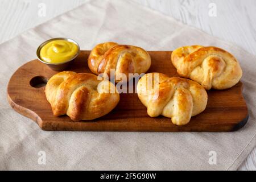
<path id="1" fill-rule="evenodd" d="M 6 88 L 14 71 L 36 58 L 39 44 L 56 37 L 73 38 L 88 50 L 105 41 L 147 50 L 190 44 L 225 48 L 243 69 L 249 122 L 233 133 L 42 131 L 11 109 Z M 0 169 L 230 170 L 237 169 L 255 146 L 256 57 L 133 2 L 89 1 L 1 44 L 0 57 Z M 38 164 L 39 151 L 46 152 L 46 165 Z M 216 165 L 208 163 L 210 151 L 216 151 Z"/>

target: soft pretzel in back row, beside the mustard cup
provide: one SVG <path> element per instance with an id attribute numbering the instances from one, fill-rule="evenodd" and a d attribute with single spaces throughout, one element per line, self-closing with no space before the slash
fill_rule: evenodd
<path id="1" fill-rule="evenodd" d="M 144 49 L 113 42 L 98 44 L 88 58 L 90 70 L 97 75 L 106 73 L 110 77 L 110 69 L 114 69 L 115 82 L 122 80 L 120 73 L 129 78 L 129 73 L 147 72 L 150 65 L 150 55 Z"/>

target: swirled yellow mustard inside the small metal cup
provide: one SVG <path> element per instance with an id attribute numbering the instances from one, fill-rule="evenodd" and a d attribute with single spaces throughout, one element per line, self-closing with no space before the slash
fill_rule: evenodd
<path id="1" fill-rule="evenodd" d="M 67 40 L 52 40 L 40 50 L 40 58 L 47 63 L 64 63 L 74 57 L 79 47 Z"/>

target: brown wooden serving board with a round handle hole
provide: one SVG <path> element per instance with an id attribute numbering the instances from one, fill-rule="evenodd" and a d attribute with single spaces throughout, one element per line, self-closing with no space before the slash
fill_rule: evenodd
<path id="1" fill-rule="evenodd" d="M 89 72 L 90 51 L 81 51 L 69 70 Z M 177 75 L 171 63 L 171 51 L 149 51 L 152 65 L 148 72 Z M 54 117 L 44 94 L 44 85 L 53 76 L 47 65 L 32 60 L 20 67 L 10 78 L 7 98 L 18 113 L 31 118 L 43 130 L 65 131 L 236 131 L 248 119 L 242 83 L 227 90 L 208 91 L 208 104 L 203 113 L 191 118 L 184 126 L 175 126 L 170 118 L 151 118 L 136 93 L 120 94 L 120 102 L 113 111 L 93 121 L 73 122 L 67 115 Z M 40 87 L 42 86 L 42 87 Z"/>

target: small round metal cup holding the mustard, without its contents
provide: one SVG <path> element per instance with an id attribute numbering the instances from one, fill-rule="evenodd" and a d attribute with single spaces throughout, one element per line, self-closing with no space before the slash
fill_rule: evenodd
<path id="1" fill-rule="evenodd" d="M 64 61 L 63 63 L 48 63 L 48 62 L 42 60 L 41 57 L 40 57 L 40 51 L 41 51 L 42 47 L 45 46 L 47 43 L 52 42 L 53 40 L 67 40 L 68 42 L 72 42 L 72 43 L 76 44 L 76 46 L 78 47 L 78 51 L 77 51 L 76 55 L 74 55 L 71 59 L 69 59 L 67 61 Z M 47 64 L 48 67 L 51 68 L 53 71 L 64 71 L 70 64 L 73 63 L 73 61 L 79 55 L 79 53 L 80 53 L 79 44 L 75 40 L 72 40 L 72 39 L 69 39 L 69 38 L 49 39 L 46 42 L 43 42 L 42 44 L 40 44 L 40 46 L 36 50 L 36 56 L 38 56 L 38 60 L 41 61 L 44 64 Z"/>

